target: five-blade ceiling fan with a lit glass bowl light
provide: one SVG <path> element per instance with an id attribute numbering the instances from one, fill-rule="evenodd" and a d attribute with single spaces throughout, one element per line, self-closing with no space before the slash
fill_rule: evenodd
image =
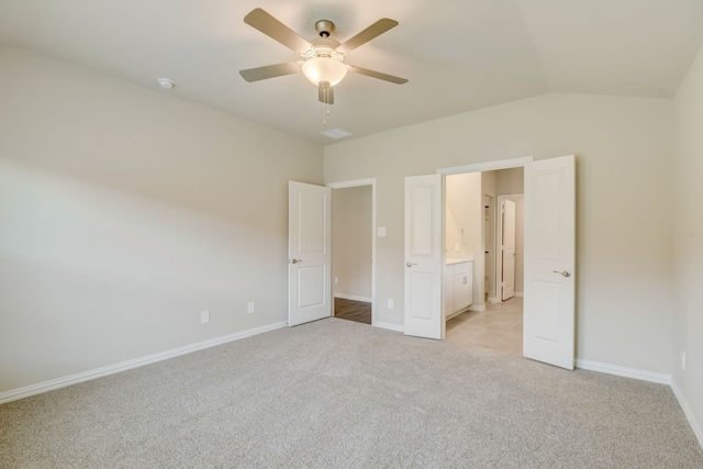
<path id="1" fill-rule="evenodd" d="M 278 41 L 302 57 L 302 59 L 294 62 L 241 70 L 239 75 L 249 82 L 291 75 L 298 72 L 298 70 L 302 70 L 305 78 L 317 87 L 317 97 L 320 101 L 325 104 L 334 104 L 333 87 L 342 81 L 347 71 L 379 78 L 397 85 L 408 82 L 405 78 L 399 78 L 344 63 L 347 53 L 397 26 L 398 21 L 383 18 L 356 36 L 347 40 L 344 44 L 330 37 L 334 31 L 334 23 L 328 20 L 320 20 L 315 23 L 315 30 L 320 37 L 310 41 L 303 40 L 290 27 L 260 8 L 252 10 L 244 16 L 244 22 L 272 40 Z"/>

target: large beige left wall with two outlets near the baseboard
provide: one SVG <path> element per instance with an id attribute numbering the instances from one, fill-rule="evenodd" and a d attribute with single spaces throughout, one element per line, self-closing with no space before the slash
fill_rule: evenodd
<path id="1" fill-rule="evenodd" d="M 286 321 L 322 148 L 172 96 L 0 48 L 0 392 Z"/>

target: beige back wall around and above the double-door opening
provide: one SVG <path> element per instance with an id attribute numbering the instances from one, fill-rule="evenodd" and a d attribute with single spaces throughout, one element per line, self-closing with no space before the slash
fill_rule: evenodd
<path id="1" fill-rule="evenodd" d="M 377 178 L 378 320 L 403 323 L 405 176 L 576 154 L 577 357 L 671 372 L 672 113 L 669 100 L 547 94 L 326 146 L 325 182 Z"/>

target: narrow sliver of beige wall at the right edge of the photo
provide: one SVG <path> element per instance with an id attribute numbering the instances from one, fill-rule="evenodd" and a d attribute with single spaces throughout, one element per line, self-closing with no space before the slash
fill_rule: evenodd
<path id="1" fill-rule="evenodd" d="M 674 386 L 689 404 L 703 444 L 703 49 L 676 96 Z M 687 354 L 687 370 L 681 353 Z"/>

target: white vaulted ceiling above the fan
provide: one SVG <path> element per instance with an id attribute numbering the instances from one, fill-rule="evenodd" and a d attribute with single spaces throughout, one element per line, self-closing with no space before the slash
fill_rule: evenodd
<path id="1" fill-rule="evenodd" d="M 335 87 L 327 129 L 355 136 L 546 92 L 671 98 L 703 44 L 703 0 L 0 0 L 0 45 L 334 142 L 301 74 L 239 76 L 298 58 L 242 21 L 255 8 L 305 38 L 321 19 L 339 42 L 400 22 L 346 58 L 410 80 L 349 74 Z"/>

